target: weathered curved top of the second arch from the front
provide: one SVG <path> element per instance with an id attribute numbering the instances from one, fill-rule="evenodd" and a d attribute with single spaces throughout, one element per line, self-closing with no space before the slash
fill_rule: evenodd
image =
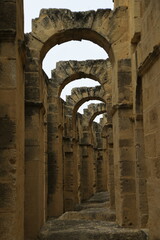
<path id="1" fill-rule="evenodd" d="M 60 61 L 52 70 L 50 83 L 57 87 L 60 96 L 62 89 L 70 82 L 80 78 L 91 78 L 111 90 L 112 67 L 107 60 Z"/>

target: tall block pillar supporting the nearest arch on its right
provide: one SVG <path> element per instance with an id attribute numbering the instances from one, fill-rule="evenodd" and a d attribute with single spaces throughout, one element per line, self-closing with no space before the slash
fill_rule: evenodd
<path id="1" fill-rule="evenodd" d="M 136 183 L 131 92 L 131 61 L 118 61 L 118 104 L 114 106 L 113 139 L 117 222 L 136 227 Z"/>

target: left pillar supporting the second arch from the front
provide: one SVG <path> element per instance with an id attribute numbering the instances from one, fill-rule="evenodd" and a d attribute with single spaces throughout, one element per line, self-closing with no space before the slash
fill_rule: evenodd
<path id="1" fill-rule="evenodd" d="M 63 103 L 56 83 L 48 84 L 48 216 L 63 213 Z"/>

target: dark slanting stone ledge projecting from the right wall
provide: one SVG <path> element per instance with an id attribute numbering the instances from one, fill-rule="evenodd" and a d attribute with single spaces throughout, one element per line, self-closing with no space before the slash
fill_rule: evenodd
<path id="1" fill-rule="evenodd" d="M 160 44 L 154 46 L 153 51 L 146 57 L 144 62 L 138 68 L 138 75 L 143 76 L 155 63 L 160 56 Z"/>

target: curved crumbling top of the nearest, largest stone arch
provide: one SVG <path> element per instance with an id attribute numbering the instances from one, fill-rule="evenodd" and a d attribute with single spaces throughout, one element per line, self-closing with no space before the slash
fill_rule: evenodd
<path id="1" fill-rule="evenodd" d="M 42 9 L 38 18 L 32 21 L 32 33 L 30 40 L 40 53 L 40 59 L 50 48 L 70 40 L 91 40 L 103 47 L 113 59 L 111 43 L 106 37 L 103 24 L 112 16 L 110 9 L 97 11 L 71 12 L 68 9 Z M 100 28 L 101 26 L 101 28 Z M 103 33 L 102 30 L 103 29 Z M 106 36 L 105 36 L 106 35 Z"/>

